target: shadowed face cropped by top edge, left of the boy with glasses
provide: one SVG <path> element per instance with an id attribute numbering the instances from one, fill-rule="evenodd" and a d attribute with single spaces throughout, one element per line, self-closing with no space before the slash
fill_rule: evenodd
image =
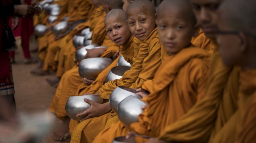
<path id="1" fill-rule="evenodd" d="M 197 22 L 209 38 L 215 38 L 218 16 L 216 10 L 222 0 L 191 0 Z"/>

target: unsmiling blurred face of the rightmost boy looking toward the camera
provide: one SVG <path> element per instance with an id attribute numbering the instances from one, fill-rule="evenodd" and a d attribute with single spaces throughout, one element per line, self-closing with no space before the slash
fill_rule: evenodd
<path id="1" fill-rule="evenodd" d="M 176 9 L 159 9 L 157 17 L 161 44 L 170 55 L 190 45 L 195 26 L 189 15 Z"/>

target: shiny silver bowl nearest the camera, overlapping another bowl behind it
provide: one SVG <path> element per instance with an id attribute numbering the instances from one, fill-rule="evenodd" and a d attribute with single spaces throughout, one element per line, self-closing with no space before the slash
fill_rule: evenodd
<path id="1" fill-rule="evenodd" d="M 121 122 L 127 127 L 134 122 L 139 122 L 138 116 L 143 112 L 142 106 L 147 105 L 145 102 L 133 96 L 126 97 L 118 105 L 117 115 Z"/>

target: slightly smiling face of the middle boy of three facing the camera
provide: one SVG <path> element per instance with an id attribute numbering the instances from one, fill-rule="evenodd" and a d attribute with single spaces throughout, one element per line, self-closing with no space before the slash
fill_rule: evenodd
<path id="1" fill-rule="evenodd" d="M 156 26 L 155 16 L 146 8 L 130 9 L 127 15 L 129 29 L 140 41 L 145 40 Z"/>

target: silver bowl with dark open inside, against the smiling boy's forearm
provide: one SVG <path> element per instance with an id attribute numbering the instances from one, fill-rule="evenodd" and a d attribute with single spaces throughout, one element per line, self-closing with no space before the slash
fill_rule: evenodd
<path id="1" fill-rule="evenodd" d="M 108 81 L 114 81 L 115 79 L 120 79 L 123 74 L 130 70 L 130 67 L 128 66 L 116 66 L 109 70 L 106 77 L 106 83 Z"/>

